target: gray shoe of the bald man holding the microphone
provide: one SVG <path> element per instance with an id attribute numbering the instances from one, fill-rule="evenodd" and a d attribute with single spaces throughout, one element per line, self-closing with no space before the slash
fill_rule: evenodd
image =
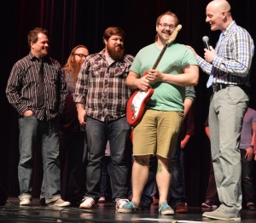
<path id="1" fill-rule="evenodd" d="M 205 212 L 202 214 L 203 217 L 209 219 L 218 219 L 218 220 L 241 220 L 240 214 L 233 214 L 225 209 L 216 209 L 211 212 Z"/>

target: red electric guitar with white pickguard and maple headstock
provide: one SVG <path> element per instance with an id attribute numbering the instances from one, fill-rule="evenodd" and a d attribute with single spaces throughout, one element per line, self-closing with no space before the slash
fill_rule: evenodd
<path id="1" fill-rule="evenodd" d="M 158 56 L 157 60 L 154 63 L 152 69 L 155 69 L 156 66 L 160 63 L 163 54 L 166 52 L 168 46 L 172 44 L 172 42 L 177 37 L 177 32 L 180 31 L 182 28 L 181 25 L 178 25 L 176 29 L 172 32 L 171 37 L 166 42 L 166 45 L 161 50 L 160 55 Z M 148 71 L 146 71 L 143 76 L 148 75 Z M 127 102 L 126 107 L 126 119 L 129 124 L 132 126 L 137 125 L 143 117 L 143 113 L 145 110 L 145 106 L 148 100 L 151 98 L 152 94 L 154 93 L 154 89 L 148 89 L 148 91 L 143 90 L 136 90 L 133 94 L 131 94 L 131 98 Z"/>

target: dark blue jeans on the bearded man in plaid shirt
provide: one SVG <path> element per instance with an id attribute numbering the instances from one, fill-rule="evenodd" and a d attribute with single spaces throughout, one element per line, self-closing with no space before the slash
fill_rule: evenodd
<path id="1" fill-rule="evenodd" d="M 112 122 L 101 122 L 91 117 L 86 119 L 88 164 L 86 169 L 85 196 L 96 201 L 100 197 L 102 159 L 109 140 L 113 164 L 113 198 L 125 198 L 127 193 L 127 166 L 125 155 L 130 144 L 131 126 L 126 117 Z"/>

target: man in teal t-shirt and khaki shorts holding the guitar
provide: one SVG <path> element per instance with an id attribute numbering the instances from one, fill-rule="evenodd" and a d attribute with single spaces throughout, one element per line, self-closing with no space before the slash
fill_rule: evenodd
<path id="1" fill-rule="evenodd" d="M 184 87 L 198 83 L 199 69 L 192 51 L 178 43 L 167 47 L 157 69 L 152 67 L 178 24 L 176 14 L 172 12 L 158 17 L 155 43 L 138 52 L 126 78 L 130 89 L 148 91 L 153 88 L 154 94 L 148 100 L 142 120 L 133 131 L 132 200 L 119 209 L 120 213 L 131 213 L 139 208 L 148 180 L 149 158 L 156 156 L 159 212 L 174 214 L 167 204 L 171 180 L 170 158 L 183 122 Z M 143 75 L 145 71 L 148 71 L 148 75 Z"/>

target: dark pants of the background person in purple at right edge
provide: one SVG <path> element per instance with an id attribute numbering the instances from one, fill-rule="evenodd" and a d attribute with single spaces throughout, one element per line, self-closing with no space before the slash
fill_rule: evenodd
<path id="1" fill-rule="evenodd" d="M 255 203 L 255 186 L 253 186 L 254 159 L 248 161 L 245 157 L 246 150 L 240 150 L 241 153 L 241 187 L 245 203 Z"/>

